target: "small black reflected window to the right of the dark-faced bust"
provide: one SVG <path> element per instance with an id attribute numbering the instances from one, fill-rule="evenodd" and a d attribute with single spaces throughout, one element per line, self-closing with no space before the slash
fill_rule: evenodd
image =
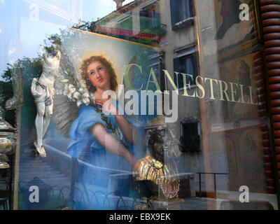
<path id="1" fill-rule="evenodd" d="M 194 118 L 185 118 L 181 122 L 181 151 L 199 152 L 200 151 L 200 122 Z"/>

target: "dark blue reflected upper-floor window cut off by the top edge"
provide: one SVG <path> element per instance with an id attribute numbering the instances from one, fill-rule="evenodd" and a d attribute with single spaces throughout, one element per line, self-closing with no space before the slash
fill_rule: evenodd
<path id="1" fill-rule="evenodd" d="M 186 22 L 194 16 L 193 0 L 170 0 L 170 6 L 172 25 Z"/>

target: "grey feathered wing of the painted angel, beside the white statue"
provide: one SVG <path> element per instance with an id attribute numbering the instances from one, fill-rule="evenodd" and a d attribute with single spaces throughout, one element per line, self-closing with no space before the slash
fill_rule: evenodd
<path id="1" fill-rule="evenodd" d="M 61 60 L 59 64 L 59 75 L 55 80 L 55 97 L 53 101 L 53 122 L 57 130 L 65 137 L 69 137 L 69 130 L 74 120 L 78 117 L 78 106 L 76 102 L 71 102 L 67 96 L 63 95 L 66 84 L 79 82 L 79 73 L 76 66 L 71 61 L 66 50 L 61 48 Z"/>

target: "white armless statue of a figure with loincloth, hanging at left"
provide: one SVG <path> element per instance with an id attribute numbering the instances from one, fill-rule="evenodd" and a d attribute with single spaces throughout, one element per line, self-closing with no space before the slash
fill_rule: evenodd
<path id="1" fill-rule="evenodd" d="M 36 103 L 37 115 L 35 119 L 35 127 L 37 139 L 34 141 L 36 151 L 41 157 L 45 157 L 45 149 L 43 148 L 43 137 L 50 125 L 50 117 L 53 110 L 53 97 L 55 94 L 54 83 L 59 73 L 59 62 L 61 59 L 60 41 L 53 41 L 50 48 L 44 47 L 42 66 L 43 72 L 39 80 L 34 78 L 31 83 L 31 94 L 34 96 Z"/>

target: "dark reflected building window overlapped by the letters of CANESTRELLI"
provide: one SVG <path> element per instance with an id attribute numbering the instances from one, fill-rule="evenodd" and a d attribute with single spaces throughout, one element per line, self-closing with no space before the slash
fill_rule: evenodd
<path id="1" fill-rule="evenodd" d="M 192 51 L 195 51 L 193 49 Z M 175 71 L 177 73 L 175 73 Z M 179 72 L 179 73 L 178 73 Z M 197 77 L 197 53 L 191 52 L 182 55 L 181 57 L 174 58 L 174 82 L 177 87 L 183 89 L 183 75 L 182 73 L 193 75 L 193 78 L 186 76 L 186 84 L 190 83 L 190 86 L 195 86 L 195 78 Z M 178 79 L 178 80 L 177 80 Z"/>

